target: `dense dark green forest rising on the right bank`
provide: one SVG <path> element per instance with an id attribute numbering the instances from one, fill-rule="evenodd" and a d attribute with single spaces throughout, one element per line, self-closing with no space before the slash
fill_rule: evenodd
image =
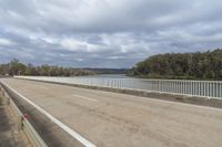
<path id="1" fill-rule="evenodd" d="M 132 67 L 130 75 L 148 78 L 222 80 L 222 50 L 153 55 Z"/>

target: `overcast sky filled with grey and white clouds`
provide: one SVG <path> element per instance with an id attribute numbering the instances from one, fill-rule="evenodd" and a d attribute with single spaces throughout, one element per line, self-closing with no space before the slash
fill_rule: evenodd
<path id="1" fill-rule="evenodd" d="M 221 0 L 0 0 L 1 63 L 131 67 L 221 46 Z"/>

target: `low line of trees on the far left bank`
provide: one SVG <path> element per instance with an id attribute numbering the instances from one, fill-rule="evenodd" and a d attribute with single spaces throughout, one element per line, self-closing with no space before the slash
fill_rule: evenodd
<path id="1" fill-rule="evenodd" d="M 42 76 L 78 76 L 97 74 L 93 71 L 60 67 L 51 65 L 33 66 L 32 64 L 23 64 L 18 60 L 12 60 L 7 64 L 0 65 L 0 75 L 42 75 Z"/>

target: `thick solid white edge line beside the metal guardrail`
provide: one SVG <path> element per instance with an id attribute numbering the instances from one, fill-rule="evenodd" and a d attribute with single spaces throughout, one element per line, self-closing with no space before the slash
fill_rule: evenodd
<path id="1" fill-rule="evenodd" d="M 48 112 L 46 112 L 43 108 L 41 108 L 40 106 L 36 105 L 33 102 L 31 102 L 30 99 L 28 99 L 27 97 L 24 97 L 23 95 L 21 95 L 20 93 L 18 93 L 16 90 L 11 88 L 8 84 L 6 84 L 2 81 L 1 81 L 1 83 L 4 84 L 10 91 L 12 91 L 13 93 L 16 93 L 18 96 L 20 96 L 21 98 L 23 98 L 24 101 L 27 101 L 29 104 L 31 104 L 33 107 L 36 107 L 39 112 L 41 112 L 42 114 L 44 114 L 54 124 L 57 124 L 58 126 L 60 126 L 63 130 L 65 130 L 68 134 L 70 134 L 77 140 L 79 140 L 83 146 L 85 146 L 85 147 L 97 147 L 91 141 L 89 141 L 84 137 L 82 137 L 80 134 L 78 134 L 77 132 L 74 132 L 73 129 L 71 129 L 67 125 L 64 125 L 63 123 L 61 123 L 59 119 L 57 119 L 56 117 L 53 117 Z"/>

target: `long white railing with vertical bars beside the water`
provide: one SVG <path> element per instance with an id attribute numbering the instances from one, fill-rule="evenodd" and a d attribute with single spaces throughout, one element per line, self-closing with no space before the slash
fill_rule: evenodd
<path id="1" fill-rule="evenodd" d="M 102 86 L 121 90 L 139 90 L 157 93 L 179 94 L 208 98 L 222 98 L 222 81 L 188 80 L 143 80 L 143 78 L 107 78 L 107 77 L 47 77 L 16 76 L 19 78 Z"/>

